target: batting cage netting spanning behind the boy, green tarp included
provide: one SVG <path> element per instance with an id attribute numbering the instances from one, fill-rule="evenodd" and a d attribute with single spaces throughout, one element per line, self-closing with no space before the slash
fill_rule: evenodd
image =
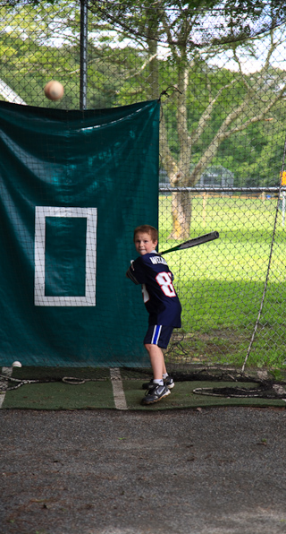
<path id="1" fill-rule="evenodd" d="M 283 2 L 0 1 L 0 365 L 144 366 L 125 277 L 159 228 L 169 366 L 286 365 Z M 46 99 L 46 83 L 63 98 Z"/>

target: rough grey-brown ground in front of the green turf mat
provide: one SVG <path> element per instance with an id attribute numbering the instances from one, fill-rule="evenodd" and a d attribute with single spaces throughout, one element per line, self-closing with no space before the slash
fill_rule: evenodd
<path id="1" fill-rule="evenodd" d="M 286 533 L 285 409 L 0 412 L 1 534 Z"/>

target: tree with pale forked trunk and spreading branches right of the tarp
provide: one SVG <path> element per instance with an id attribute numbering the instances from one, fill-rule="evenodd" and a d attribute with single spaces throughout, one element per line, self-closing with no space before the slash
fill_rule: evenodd
<path id="1" fill-rule="evenodd" d="M 271 91 L 271 84 L 265 82 L 271 67 L 274 50 L 281 42 L 275 39 L 275 28 L 285 17 L 285 6 L 277 2 L 235 2 L 225 4 L 215 2 L 168 2 L 153 3 L 145 0 L 136 7 L 132 2 L 94 3 L 94 10 L 105 20 L 116 24 L 122 34 L 132 34 L 140 44 L 145 42 L 148 56 L 151 98 L 158 98 L 161 92 L 158 43 L 167 47 L 168 59 L 166 65 L 172 70 L 172 88 L 166 93 L 169 96 L 164 102 L 165 109 L 170 102 L 175 102 L 178 154 L 174 154 L 170 147 L 170 135 L 166 124 L 166 112 L 161 120 L 161 158 L 162 164 L 170 177 L 173 187 L 193 186 L 217 155 L 220 146 L 234 134 L 248 129 L 255 123 L 269 117 L 275 104 L 283 98 L 285 91 L 285 73 L 280 73 L 279 90 Z M 219 24 L 211 26 L 215 9 L 220 8 Z M 251 38 L 255 35 L 255 23 L 260 23 L 260 30 L 269 30 L 269 48 L 264 65 L 260 72 L 251 79 L 243 72 L 241 63 L 241 48 L 250 54 L 254 53 L 253 42 L 241 44 L 238 39 Z M 207 27 L 207 23 L 210 25 Z M 253 38 L 258 39 L 258 38 Z M 220 45 L 220 48 L 218 46 Z M 209 76 L 208 62 L 223 47 L 229 51 L 237 65 L 238 73 L 233 73 L 232 79 L 214 87 Z M 188 92 L 191 73 L 200 63 L 205 65 L 206 92 L 208 102 L 201 112 L 196 127 L 189 128 L 188 120 Z M 175 76 L 175 80 L 174 80 Z M 277 78 L 277 77 L 276 77 Z M 192 163 L 193 147 L 200 142 L 206 128 L 212 121 L 214 109 L 227 91 L 240 83 L 241 96 L 236 103 L 224 109 L 220 124 L 216 125 L 212 139 L 206 146 L 201 147 L 199 159 L 194 166 Z M 277 80 L 276 80 L 277 87 Z M 269 117 L 270 118 L 270 117 Z M 190 170 L 192 168 L 192 170 Z M 186 239 L 189 237 L 191 220 L 191 202 L 186 191 L 176 191 L 172 194 L 172 238 Z"/>

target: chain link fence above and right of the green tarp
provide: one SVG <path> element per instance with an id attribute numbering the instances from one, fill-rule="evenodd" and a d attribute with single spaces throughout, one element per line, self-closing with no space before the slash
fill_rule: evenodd
<path id="1" fill-rule="evenodd" d="M 0 2 L 0 99 L 161 99 L 159 250 L 220 233 L 166 256 L 183 306 L 174 366 L 285 365 L 285 7 L 251 5 Z M 50 80 L 63 99 L 46 99 Z"/>

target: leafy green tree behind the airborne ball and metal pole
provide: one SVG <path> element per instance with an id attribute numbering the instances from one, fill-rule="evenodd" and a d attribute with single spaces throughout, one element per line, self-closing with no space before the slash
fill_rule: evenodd
<path id="1" fill-rule="evenodd" d="M 78 1 L 13 0 L 5 7 L 0 2 L 0 19 L 1 79 L 29 105 L 79 108 Z M 122 49 L 120 38 L 112 46 L 106 30 L 105 23 L 94 15 L 88 32 L 88 108 L 129 104 L 142 91 L 137 73 L 144 71 L 146 57 L 137 47 Z M 63 99 L 56 104 L 43 93 L 52 78 L 64 85 Z"/>

